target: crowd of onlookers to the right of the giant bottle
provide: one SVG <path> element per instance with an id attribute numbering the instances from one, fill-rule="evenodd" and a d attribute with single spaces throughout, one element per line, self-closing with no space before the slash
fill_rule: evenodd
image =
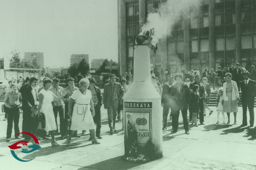
<path id="1" fill-rule="evenodd" d="M 151 73 L 152 75 L 152 73 Z M 152 76 L 152 79 L 155 79 Z M 233 124 L 237 124 L 238 101 L 242 101 L 243 120 L 241 127 L 247 126 L 247 108 L 250 114 L 250 126 L 254 126 L 254 97 L 256 95 L 256 71 L 255 66 L 251 66 L 251 70 L 246 71 L 236 64 L 236 68 L 228 66 L 222 71 L 218 66 L 218 70 L 214 73 L 205 69 L 200 75 L 197 68 L 184 73 L 168 74 L 167 82 L 164 76 L 160 76 L 162 80 L 162 106 L 163 106 L 163 130 L 167 129 L 167 117 L 171 109 L 170 119 L 172 120 L 172 133 L 176 133 L 179 118 L 179 111 L 183 116 L 183 125 L 185 133 L 189 134 L 188 122 L 191 125 L 197 125 L 199 118 L 200 125 L 204 125 L 205 110 L 209 110 L 209 115 L 213 113 L 207 104 L 209 103 L 210 88 L 216 90 L 217 96 L 217 122 L 220 124 L 220 113 L 222 113 L 223 123 L 225 124 L 225 114 L 228 116 L 230 124 L 230 113 L 234 114 Z M 155 84 L 155 81 L 152 80 Z M 241 91 L 241 98 L 239 92 Z M 189 118 L 187 118 L 189 111 Z M 255 132 L 256 134 L 256 132 Z"/>

